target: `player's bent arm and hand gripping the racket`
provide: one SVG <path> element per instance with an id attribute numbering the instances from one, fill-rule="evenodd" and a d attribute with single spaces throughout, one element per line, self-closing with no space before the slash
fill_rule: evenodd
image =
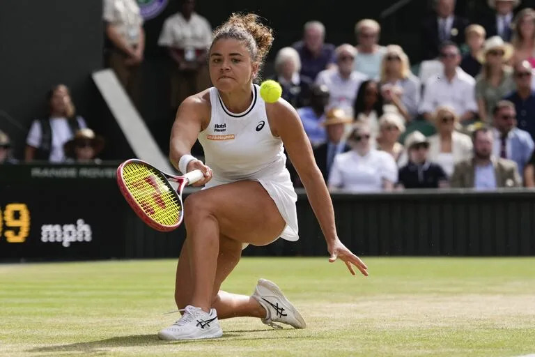
<path id="1" fill-rule="evenodd" d="M 193 144 L 210 118 L 210 107 L 202 94 L 186 98 L 176 112 L 175 122 L 171 128 L 171 142 L 169 144 L 169 160 L 176 169 L 180 170 L 180 158 L 191 155 Z M 212 170 L 200 160 L 191 160 L 187 164 L 186 172 L 200 169 L 205 178 L 195 183 L 204 185 L 212 179 Z M 180 170 L 182 171 L 182 170 Z M 183 172 L 185 174 L 186 172 Z"/>

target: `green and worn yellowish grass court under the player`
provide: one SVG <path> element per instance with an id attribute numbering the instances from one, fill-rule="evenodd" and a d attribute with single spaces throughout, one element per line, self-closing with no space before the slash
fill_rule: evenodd
<path id="1" fill-rule="evenodd" d="M 245 258 L 224 289 L 274 280 L 305 330 L 221 321 L 222 338 L 164 342 L 176 261 L 0 265 L 1 356 L 519 356 L 535 353 L 535 258 Z"/>

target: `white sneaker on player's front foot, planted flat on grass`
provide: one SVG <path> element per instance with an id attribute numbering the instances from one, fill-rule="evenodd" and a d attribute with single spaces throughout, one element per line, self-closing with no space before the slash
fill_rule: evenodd
<path id="1" fill-rule="evenodd" d="M 217 320 L 217 312 L 204 312 L 200 307 L 187 305 L 178 321 L 158 333 L 162 340 L 199 340 L 221 337 L 223 331 Z"/>

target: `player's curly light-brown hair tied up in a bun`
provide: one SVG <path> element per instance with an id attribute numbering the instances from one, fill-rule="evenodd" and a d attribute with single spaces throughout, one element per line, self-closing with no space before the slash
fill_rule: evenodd
<path id="1" fill-rule="evenodd" d="M 212 45 L 222 38 L 233 38 L 245 43 L 249 55 L 260 68 L 273 43 L 273 30 L 260 22 L 255 14 L 233 13 L 213 33 Z"/>

